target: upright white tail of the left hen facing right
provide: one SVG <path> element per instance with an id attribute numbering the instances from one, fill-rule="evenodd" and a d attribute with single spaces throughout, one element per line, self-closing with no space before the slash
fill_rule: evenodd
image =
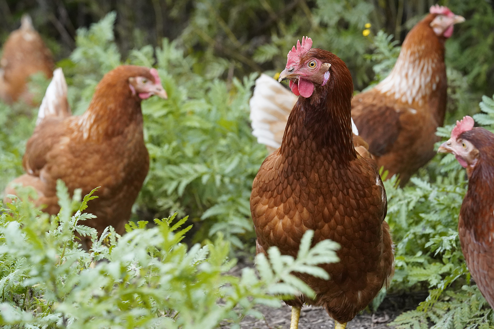
<path id="1" fill-rule="evenodd" d="M 62 69 L 58 68 L 53 71 L 53 78 L 48 88 L 46 88 L 36 125 L 39 125 L 48 116 L 66 117 L 71 114 L 69 102 L 67 101 L 67 82 Z"/>

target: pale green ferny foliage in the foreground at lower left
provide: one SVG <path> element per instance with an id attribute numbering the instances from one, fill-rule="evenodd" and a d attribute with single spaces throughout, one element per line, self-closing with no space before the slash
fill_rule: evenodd
<path id="1" fill-rule="evenodd" d="M 155 219 L 155 227 L 139 221 L 121 237 L 108 227 L 98 238 L 83 225 L 94 196 L 69 197 L 57 183 L 60 213 L 49 217 L 35 209 L 25 188 L 13 203 L 0 209 L 0 325 L 2 328 L 232 328 L 246 315 L 262 317 L 254 306 L 280 306 L 279 296 L 315 293 L 293 271 L 328 278 L 318 267 L 338 261 L 336 243 L 322 241 L 310 248 L 313 232 L 302 238 L 298 257 L 282 256 L 276 248 L 269 260 L 259 256 L 257 270 L 240 277 L 226 274 L 236 263 L 230 244 L 219 234 L 190 249 L 181 244 L 191 226 L 187 218 Z M 75 214 L 74 214 L 75 211 Z M 81 236 L 92 238 L 84 251 Z"/>

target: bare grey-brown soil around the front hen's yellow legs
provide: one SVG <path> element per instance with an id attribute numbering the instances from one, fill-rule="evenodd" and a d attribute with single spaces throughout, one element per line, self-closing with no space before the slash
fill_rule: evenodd
<path id="1" fill-rule="evenodd" d="M 231 269 L 230 274 L 241 275 L 242 268 L 253 267 L 251 261 L 239 259 L 237 266 Z M 414 309 L 418 303 L 425 300 L 427 292 L 412 294 L 389 294 L 377 312 L 370 314 L 362 312 L 347 325 L 347 329 L 393 329 L 388 324 L 403 311 Z M 256 319 L 248 316 L 241 322 L 241 329 L 289 329 L 291 307 L 283 305 L 281 308 L 258 306 L 256 308 L 264 316 L 264 319 Z M 224 323 L 221 329 L 229 329 L 230 325 Z M 326 310 L 321 307 L 304 306 L 300 313 L 299 329 L 334 329 L 334 321 Z"/>

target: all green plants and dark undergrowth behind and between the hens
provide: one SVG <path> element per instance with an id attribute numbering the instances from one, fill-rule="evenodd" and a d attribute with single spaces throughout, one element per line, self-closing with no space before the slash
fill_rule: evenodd
<path id="1" fill-rule="evenodd" d="M 448 125 L 478 113 L 481 100 L 486 113 L 475 119 L 493 129 L 494 4 L 439 3 L 466 22 L 455 26 L 446 42 L 447 126 L 438 134 L 449 136 Z M 230 256 L 252 257 L 248 199 L 267 155 L 251 136 L 248 119 L 257 73 L 281 71 L 288 50 L 307 35 L 315 46 L 341 57 L 355 89 L 363 90 L 389 73 L 407 32 L 432 4 L 435 1 L 0 0 L 0 40 L 29 13 L 66 74 L 75 114 L 86 109 L 97 82 L 117 65 L 157 67 L 169 99 L 142 105 L 151 167 L 133 219 L 189 215 L 194 227 L 185 241 L 202 242 L 222 232 L 234 247 Z M 371 28 L 364 36 L 366 23 Z M 32 77 L 30 88 L 40 100 L 46 86 L 42 76 Z M 0 104 L 0 189 L 22 173 L 36 112 L 25 104 Z M 493 312 L 470 281 L 459 248 L 464 170 L 453 156 L 437 155 L 403 189 L 394 183 L 386 182 L 387 221 L 397 244 L 389 292 L 430 291 L 427 301 L 396 325 L 493 326 Z M 371 308 L 385 295 L 383 291 Z"/>

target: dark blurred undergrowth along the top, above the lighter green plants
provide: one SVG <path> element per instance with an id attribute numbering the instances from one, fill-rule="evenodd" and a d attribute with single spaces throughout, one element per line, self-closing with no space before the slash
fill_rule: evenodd
<path id="1" fill-rule="evenodd" d="M 439 1 L 467 21 L 455 27 L 447 43 L 448 64 L 467 76 L 476 92 L 494 92 L 494 20 L 490 0 Z M 222 77 L 284 67 L 286 50 L 303 35 L 315 46 L 330 49 L 350 67 L 355 88 L 373 78 L 372 40 L 361 32 L 383 30 L 399 43 L 428 13 L 434 0 L 0 0 L 0 40 L 19 26 L 23 13 L 57 59 L 74 50 L 77 29 L 115 11 L 115 42 L 124 58 L 144 45 L 161 46 L 163 38 L 177 40 L 185 55 L 207 63 L 220 58 Z M 212 70 L 207 65 L 195 68 Z"/>

